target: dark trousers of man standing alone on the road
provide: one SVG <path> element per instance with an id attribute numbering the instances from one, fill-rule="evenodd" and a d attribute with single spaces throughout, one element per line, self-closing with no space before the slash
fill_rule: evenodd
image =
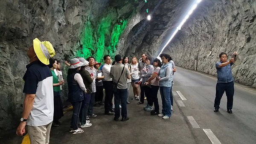
<path id="1" fill-rule="evenodd" d="M 214 107 L 220 108 L 221 98 L 224 92 L 227 95 L 227 109 L 233 108 L 233 96 L 234 96 L 234 82 L 230 83 L 217 83 L 216 84 L 216 95 L 214 101 Z"/>

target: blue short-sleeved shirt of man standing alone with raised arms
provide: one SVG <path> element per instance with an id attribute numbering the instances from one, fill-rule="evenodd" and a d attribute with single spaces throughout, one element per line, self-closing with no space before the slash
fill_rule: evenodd
<path id="1" fill-rule="evenodd" d="M 231 66 L 233 65 L 233 63 L 229 63 L 227 66 L 224 67 L 218 67 L 221 63 L 222 62 L 219 61 L 215 64 L 218 75 L 217 83 L 229 83 L 231 81 L 234 81 L 231 72 Z"/>

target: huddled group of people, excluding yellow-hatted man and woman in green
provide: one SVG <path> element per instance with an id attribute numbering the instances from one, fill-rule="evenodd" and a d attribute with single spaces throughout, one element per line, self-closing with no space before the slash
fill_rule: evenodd
<path id="1" fill-rule="evenodd" d="M 148 103 L 144 110 L 151 111 L 151 115 L 169 119 L 172 115 L 172 79 L 176 69 L 170 55 L 161 54 L 160 58 L 162 62 L 158 58 L 152 60 L 143 53 L 138 63 L 135 56 L 129 61 L 128 56 L 116 55 L 112 62 L 110 55 L 105 55 L 103 57 L 105 63 L 102 67 L 101 63 L 96 62 L 91 56 L 86 60 L 76 57 L 71 59 L 70 63 L 66 61 L 65 63 L 70 66 L 67 75 L 68 100 L 73 105 L 70 132 L 81 133 L 84 132 L 81 128 L 92 126 L 90 117 L 97 116 L 93 112 L 93 106 L 104 105 L 105 115 L 114 115 L 115 121 L 119 121 L 121 109 L 121 121 L 129 120 L 126 106 L 130 104 L 131 86 L 134 94 L 131 100 L 144 104 L 146 99 Z M 103 89 L 105 89 L 104 104 Z M 162 112 L 159 111 L 157 98 L 159 89 Z M 59 124 L 58 121 L 53 122 Z"/>

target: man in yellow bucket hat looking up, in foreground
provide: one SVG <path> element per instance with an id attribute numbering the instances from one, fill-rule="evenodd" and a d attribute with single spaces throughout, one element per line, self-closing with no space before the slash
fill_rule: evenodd
<path id="1" fill-rule="evenodd" d="M 16 134 L 23 135 L 27 125 L 31 144 L 49 144 L 49 134 L 53 120 L 53 87 L 49 58 L 55 50 L 49 41 L 33 40 L 27 56 L 30 63 L 23 76 L 23 92 L 26 93 L 20 125 Z"/>

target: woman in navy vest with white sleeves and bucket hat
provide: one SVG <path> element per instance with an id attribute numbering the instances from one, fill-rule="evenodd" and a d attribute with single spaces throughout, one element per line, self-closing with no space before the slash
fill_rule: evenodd
<path id="1" fill-rule="evenodd" d="M 86 93 L 83 78 L 78 72 L 83 65 L 84 63 L 79 61 L 78 58 L 73 58 L 70 60 L 70 68 L 67 72 L 68 100 L 73 106 L 70 132 L 73 134 L 84 132 L 84 130 L 78 128 L 77 126 L 79 112 L 81 109 L 82 101 L 84 100 L 83 95 Z"/>

